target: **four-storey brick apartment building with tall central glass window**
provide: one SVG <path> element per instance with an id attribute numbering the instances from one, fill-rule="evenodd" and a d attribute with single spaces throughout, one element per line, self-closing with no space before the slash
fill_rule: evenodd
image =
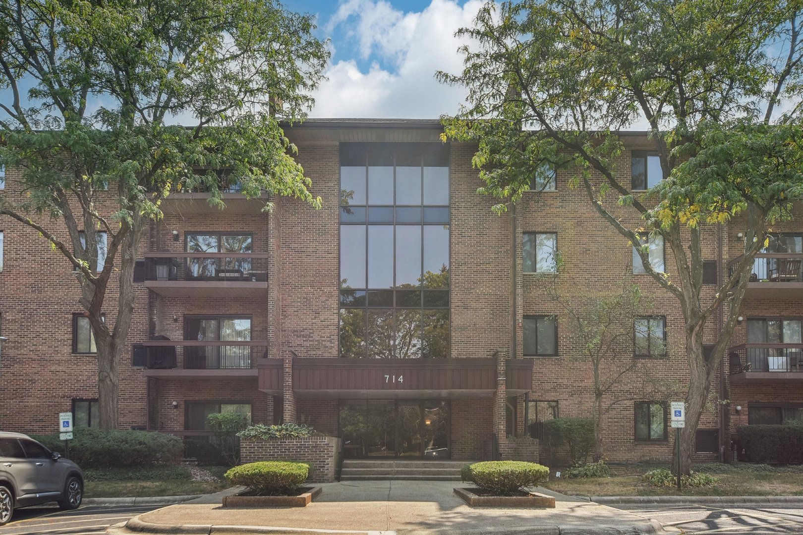
<path id="1" fill-rule="evenodd" d="M 169 197 L 141 245 L 120 427 L 206 436 L 206 415 L 237 411 L 341 436 L 349 457 L 521 454 L 545 420 L 591 414 L 591 367 L 548 291 L 609 294 L 623 280 L 653 298 L 635 322 L 633 358 L 682 384 L 677 302 L 638 273 L 632 246 L 569 188 L 570 172 L 558 169 L 543 192 L 499 217 L 476 193 L 474 148 L 442 144 L 441 132 L 434 120 L 288 128 L 320 210 L 276 199 L 265 213 L 236 184 L 224 211 L 203 193 Z M 622 139 L 623 183 L 649 187 L 646 136 Z M 10 196 L 20 194 L 17 176 L 6 170 Z M 756 259 L 744 321 L 712 387 L 700 460 L 729 454 L 737 425 L 803 419 L 803 227 L 777 230 Z M 743 246 L 740 221 L 705 237 L 704 291 L 713 296 Z M 671 275 L 671 252 L 653 245 L 651 260 Z M 557 276 L 556 250 L 565 265 Z M 53 432 L 57 413 L 70 410 L 78 426 L 96 425 L 92 333 L 70 265 L 35 231 L 0 217 L 0 269 L 0 428 Z M 625 400 L 605 416 L 609 458 L 666 460 L 670 399 L 644 399 L 635 371 L 614 394 Z"/>

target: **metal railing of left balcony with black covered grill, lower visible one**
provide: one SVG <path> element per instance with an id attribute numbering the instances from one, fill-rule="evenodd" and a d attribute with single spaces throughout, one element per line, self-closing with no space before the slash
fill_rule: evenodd
<path id="1" fill-rule="evenodd" d="M 139 357 L 151 369 L 249 370 L 267 351 L 267 342 L 152 340 L 141 344 Z"/>

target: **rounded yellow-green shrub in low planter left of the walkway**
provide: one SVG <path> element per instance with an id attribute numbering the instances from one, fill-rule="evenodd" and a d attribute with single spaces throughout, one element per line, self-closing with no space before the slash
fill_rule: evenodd
<path id="1" fill-rule="evenodd" d="M 263 460 L 231 468 L 226 472 L 226 480 L 246 487 L 258 496 L 283 496 L 297 494 L 308 475 L 307 463 Z"/>

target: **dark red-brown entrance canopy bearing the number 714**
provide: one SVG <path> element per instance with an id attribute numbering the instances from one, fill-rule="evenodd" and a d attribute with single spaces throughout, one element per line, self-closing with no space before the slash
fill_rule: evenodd
<path id="1" fill-rule="evenodd" d="M 497 377 L 495 359 L 292 359 L 292 390 L 299 398 L 421 399 L 491 396 L 504 379 L 508 395 L 532 387 L 532 359 L 507 359 Z M 283 359 L 259 359 L 259 389 L 281 394 Z"/>

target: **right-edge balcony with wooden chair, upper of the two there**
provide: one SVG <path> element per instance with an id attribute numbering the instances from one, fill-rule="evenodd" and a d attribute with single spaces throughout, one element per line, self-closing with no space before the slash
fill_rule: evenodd
<path id="1" fill-rule="evenodd" d="M 730 262 L 730 274 L 736 268 Z M 758 253 L 753 261 L 747 298 L 803 298 L 803 253 Z"/>

